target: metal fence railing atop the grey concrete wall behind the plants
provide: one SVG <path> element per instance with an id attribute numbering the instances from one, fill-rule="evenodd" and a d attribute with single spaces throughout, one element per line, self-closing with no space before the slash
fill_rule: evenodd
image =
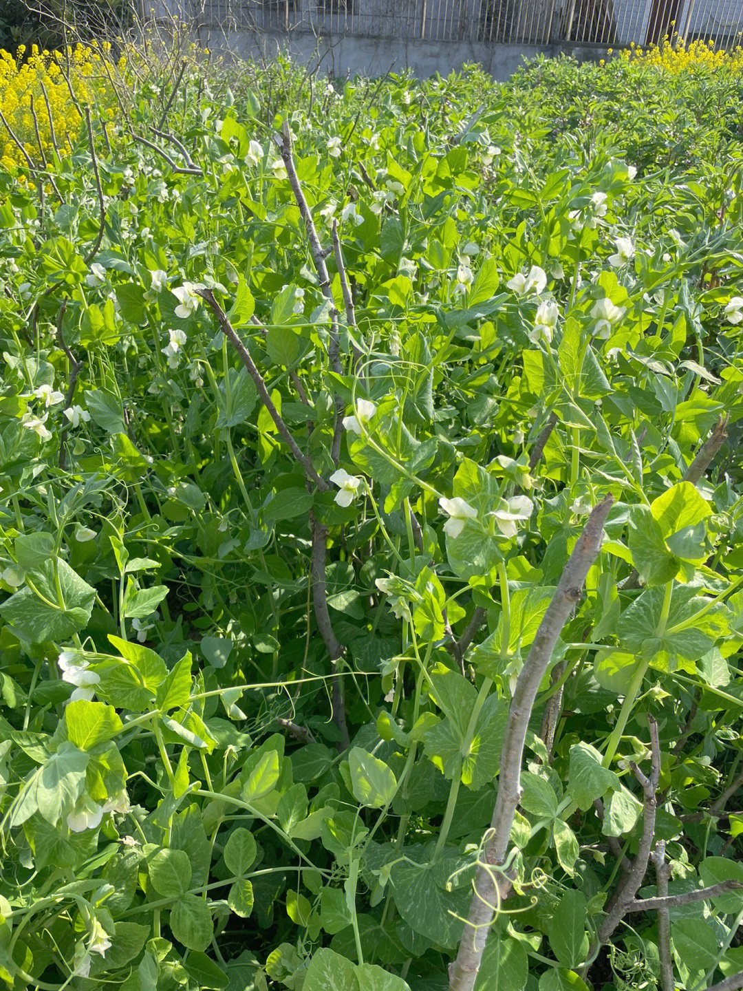
<path id="1" fill-rule="evenodd" d="M 678 35 L 730 49 L 743 0 L 200 0 L 223 30 L 501 45 L 645 46 Z"/>

